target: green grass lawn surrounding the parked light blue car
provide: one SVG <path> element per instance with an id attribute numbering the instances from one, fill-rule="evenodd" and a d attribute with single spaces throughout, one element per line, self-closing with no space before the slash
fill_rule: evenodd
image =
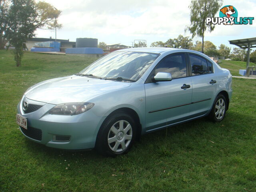
<path id="1" fill-rule="evenodd" d="M 233 78 L 222 122 L 202 118 L 144 135 L 124 156 L 68 152 L 26 139 L 16 124 L 25 90 L 93 61 L 28 52 L 17 68 L 12 54 L 0 51 L 0 192 L 256 192 L 256 80 Z M 220 65 L 238 75 L 246 63 Z"/>

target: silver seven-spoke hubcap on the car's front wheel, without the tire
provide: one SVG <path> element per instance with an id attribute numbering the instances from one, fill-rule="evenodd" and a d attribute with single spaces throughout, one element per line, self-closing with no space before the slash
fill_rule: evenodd
<path id="1" fill-rule="evenodd" d="M 114 152 L 128 148 L 132 140 L 132 126 L 126 120 L 115 122 L 108 132 L 108 146 Z"/>

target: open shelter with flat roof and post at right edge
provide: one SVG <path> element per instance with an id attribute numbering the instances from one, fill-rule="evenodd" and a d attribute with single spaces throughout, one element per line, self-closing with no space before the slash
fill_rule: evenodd
<path id="1" fill-rule="evenodd" d="M 247 39 L 230 40 L 230 44 L 236 45 L 242 49 L 247 49 L 246 70 L 250 66 L 250 48 L 256 47 L 256 37 Z"/>

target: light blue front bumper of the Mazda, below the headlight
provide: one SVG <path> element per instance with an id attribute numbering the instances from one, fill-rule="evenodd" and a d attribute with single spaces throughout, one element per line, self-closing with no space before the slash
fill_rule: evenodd
<path id="1" fill-rule="evenodd" d="M 96 116 L 92 110 L 74 116 L 48 114 L 55 106 L 53 104 L 44 104 L 38 110 L 25 114 L 22 110 L 24 98 L 28 103 L 33 102 L 23 96 L 17 106 L 18 113 L 28 121 L 28 130 L 20 128 L 24 136 L 53 148 L 67 150 L 94 148 L 98 130 L 106 117 Z M 56 141 L 56 136 L 70 139 L 65 142 Z"/>

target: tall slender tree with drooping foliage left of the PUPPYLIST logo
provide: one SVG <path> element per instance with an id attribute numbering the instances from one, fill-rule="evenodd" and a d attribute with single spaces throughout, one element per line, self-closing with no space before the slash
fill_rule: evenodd
<path id="1" fill-rule="evenodd" d="M 202 37 L 202 52 L 204 52 L 204 34 L 208 30 L 212 32 L 214 30 L 214 24 L 206 25 L 207 17 L 214 17 L 218 12 L 222 0 L 192 0 L 190 3 L 190 26 L 187 26 L 186 30 L 192 33 L 194 36 Z"/>

